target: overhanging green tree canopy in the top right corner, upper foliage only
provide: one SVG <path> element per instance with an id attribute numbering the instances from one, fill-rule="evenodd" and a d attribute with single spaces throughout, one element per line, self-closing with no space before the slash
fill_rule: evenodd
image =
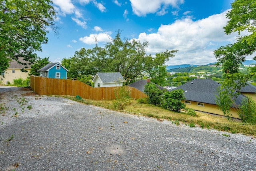
<path id="1" fill-rule="evenodd" d="M 256 51 L 256 1 L 234 0 L 231 7 L 226 15 L 230 20 L 224 27 L 225 33 L 238 32 L 239 36 L 234 44 L 221 46 L 214 51 L 218 59 L 217 64 L 222 64 L 225 73 L 237 73 L 245 57 Z M 240 35 L 242 31 L 247 35 Z"/>

